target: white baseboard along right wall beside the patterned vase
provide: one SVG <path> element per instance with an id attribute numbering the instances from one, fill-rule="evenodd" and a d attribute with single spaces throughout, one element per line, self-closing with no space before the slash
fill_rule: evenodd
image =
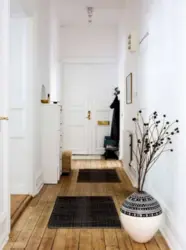
<path id="1" fill-rule="evenodd" d="M 179 234 L 176 230 L 176 225 L 174 223 L 174 216 L 170 209 L 166 206 L 165 202 L 162 200 L 161 196 L 154 190 L 149 184 L 146 185 L 146 190 L 151 194 L 158 202 L 161 204 L 161 207 L 164 211 L 164 219 L 160 231 L 165 238 L 167 244 L 171 250 L 185 250 L 181 246 L 179 240 Z"/>

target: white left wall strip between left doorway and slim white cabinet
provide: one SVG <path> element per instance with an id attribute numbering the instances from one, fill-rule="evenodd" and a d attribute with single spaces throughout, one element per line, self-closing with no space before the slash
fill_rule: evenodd
<path id="1" fill-rule="evenodd" d="M 33 84 L 33 193 L 43 185 L 41 167 L 41 86 L 50 89 L 50 4 L 39 0 L 34 13 L 34 84 Z"/>

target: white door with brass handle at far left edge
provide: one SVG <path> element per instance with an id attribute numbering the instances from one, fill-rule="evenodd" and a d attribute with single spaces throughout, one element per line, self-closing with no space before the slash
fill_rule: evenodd
<path id="1" fill-rule="evenodd" d="M 0 0 L 0 249 L 10 231 L 8 185 L 9 1 Z"/>

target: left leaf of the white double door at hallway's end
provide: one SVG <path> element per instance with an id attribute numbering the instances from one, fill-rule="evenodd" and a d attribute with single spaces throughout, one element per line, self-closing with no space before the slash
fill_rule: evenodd
<path id="1" fill-rule="evenodd" d="M 64 67 L 62 85 L 63 106 L 63 150 L 72 150 L 74 154 L 88 154 L 88 82 L 86 65 L 68 64 Z"/>

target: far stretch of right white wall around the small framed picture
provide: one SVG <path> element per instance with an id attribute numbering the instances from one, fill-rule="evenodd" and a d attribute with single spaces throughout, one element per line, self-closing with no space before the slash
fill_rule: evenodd
<path id="1" fill-rule="evenodd" d="M 128 51 L 128 36 L 132 31 L 139 30 L 139 1 L 128 2 L 119 26 L 119 85 L 121 90 L 121 128 L 120 128 L 120 159 L 123 160 L 126 172 L 135 182 L 135 171 L 129 167 L 130 150 L 129 134 L 134 132 L 132 117 L 138 108 L 137 98 L 137 61 L 138 52 Z M 126 77 L 133 74 L 133 102 L 126 104 Z"/>

